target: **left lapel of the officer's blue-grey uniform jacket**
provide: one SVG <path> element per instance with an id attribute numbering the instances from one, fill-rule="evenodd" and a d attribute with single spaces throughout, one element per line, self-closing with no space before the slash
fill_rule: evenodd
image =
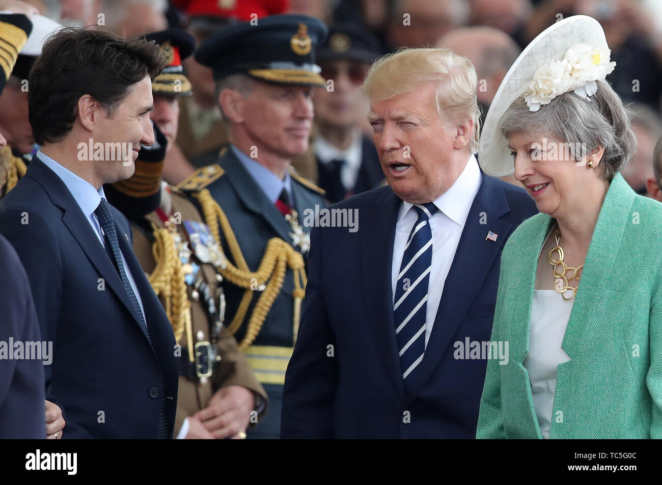
<path id="1" fill-rule="evenodd" d="M 242 162 L 232 153 L 232 150 L 228 149 L 225 152 L 221 160 L 221 166 L 225 170 L 225 176 L 232 183 L 238 199 L 250 211 L 261 215 L 281 239 L 290 241 L 289 233 L 291 229 L 289 223 L 287 223 L 285 217 L 283 217 L 283 214 L 281 214 L 275 204 L 267 199 L 264 191 L 253 180 L 252 176 L 242 165 Z"/>

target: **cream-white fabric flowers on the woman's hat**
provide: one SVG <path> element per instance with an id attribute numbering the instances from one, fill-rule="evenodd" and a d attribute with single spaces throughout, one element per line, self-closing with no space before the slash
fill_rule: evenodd
<path id="1" fill-rule="evenodd" d="M 610 62 L 611 51 L 594 49 L 589 44 L 573 44 L 562 60 L 553 60 L 536 71 L 522 97 L 530 111 L 569 91 L 589 97 L 598 89 L 597 80 L 603 80 L 616 66 Z"/>

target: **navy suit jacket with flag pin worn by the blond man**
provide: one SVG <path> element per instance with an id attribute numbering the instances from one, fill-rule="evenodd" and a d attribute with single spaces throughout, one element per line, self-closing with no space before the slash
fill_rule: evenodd
<path id="1" fill-rule="evenodd" d="M 358 209 L 358 231 L 313 229 L 281 437 L 475 437 L 487 360 L 456 360 L 453 343 L 490 340 L 501 249 L 536 206 L 523 189 L 483 175 L 406 392 L 391 290 L 400 204 L 390 187 L 373 189 L 331 206 Z"/>

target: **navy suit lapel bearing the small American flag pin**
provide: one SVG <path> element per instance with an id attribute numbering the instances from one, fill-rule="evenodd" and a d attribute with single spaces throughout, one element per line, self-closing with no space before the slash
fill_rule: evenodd
<path id="1" fill-rule="evenodd" d="M 477 295 L 496 254 L 510 231 L 510 223 L 498 217 L 508 213 L 510 207 L 503 189 L 491 178 L 483 182 L 473 200 L 467 221 L 457 245 L 453 263 L 444 283 L 444 292 L 434 319 L 428 346 L 410 383 L 410 397 L 416 396 L 432 376 L 442 356 L 448 351 L 453 336 L 465 319 L 471 302 Z M 487 239 L 492 231 L 500 237 Z"/>

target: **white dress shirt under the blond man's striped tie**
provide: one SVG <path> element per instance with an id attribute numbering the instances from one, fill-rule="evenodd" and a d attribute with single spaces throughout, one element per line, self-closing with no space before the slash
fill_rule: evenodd
<path id="1" fill-rule="evenodd" d="M 444 192 L 434 205 L 439 211 L 430 217 L 430 230 L 432 231 L 432 268 L 430 269 L 430 286 L 428 288 L 428 302 L 426 303 L 425 345 L 428 346 L 434 318 L 437 315 L 439 302 L 444 292 L 446 276 L 451 268 L 457 244 L 462 235 L 464 225 L 473 204 L 473 199 L 481 187 L 483 177 L 478 168 L 476 158 L 471 155 L 455 184 Z M 393 243 L 393 266 L 391 268 L 391 283 L 395 304 L 395 286 L 398 283 L 398 274 L 404 256 L 409 234 L 418 219 L 416 209 L 410 202 L 402 201 L 398 213 L 398 222 L 395 227 L 395 241 Z"/>

